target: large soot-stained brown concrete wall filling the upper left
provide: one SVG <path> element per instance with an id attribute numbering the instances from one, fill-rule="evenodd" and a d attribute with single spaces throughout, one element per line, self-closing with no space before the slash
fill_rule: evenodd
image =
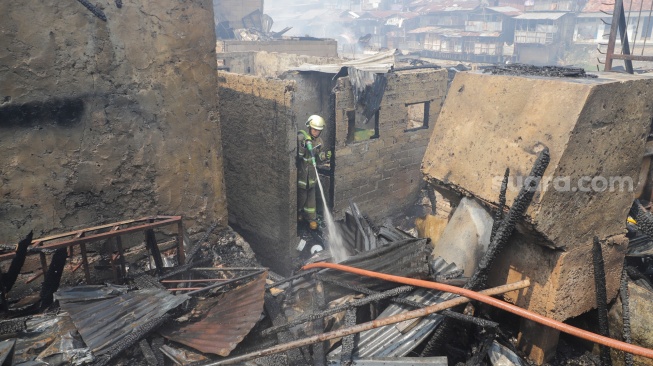
<path id="1" fill-rule="evenodd" d="M 0 240 L 226 224 L 211 1 L 0 2 Z"/>

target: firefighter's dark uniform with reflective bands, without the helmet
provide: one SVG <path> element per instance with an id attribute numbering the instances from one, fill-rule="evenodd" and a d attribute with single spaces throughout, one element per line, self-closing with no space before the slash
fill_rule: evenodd
<path id="1" fill-rule="evenodd" d="M 297 209 L 300 217 L 308 221 L 315 221 L 317 219 L 315 197 L 317 176 L 311 161 L 311 153 L 306 147 L 307 141 L 311 141 L 313 145 L 315 160 L 318 164 L 326 162 L 327 158 L 326 154 L 322 152 L 322 139 L 319 137 L 314 138 L 307 131 L 300 130 L 297 134 L 297 158 L 299 159 L 297 169 Z"/>

